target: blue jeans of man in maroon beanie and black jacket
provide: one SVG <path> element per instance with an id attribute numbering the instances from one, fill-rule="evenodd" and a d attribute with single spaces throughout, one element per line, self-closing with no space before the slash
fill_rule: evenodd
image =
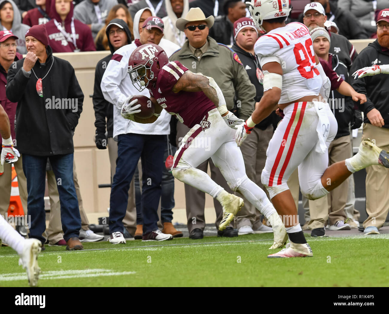
<path id="1" fill-rule="evenodd" d="M 73 179 L 73 153 L 54 156 L 35 156 L 23 154 L 23 172 L 27 179 L 27 215 L 31 217 L 28 237 L 46 241 L 42 233 L 46 230 L 44 204 L 46 163 L 49 158 L 57 180 L 61 204 L 63 239 L 78 237 L 81 217 Z"/>

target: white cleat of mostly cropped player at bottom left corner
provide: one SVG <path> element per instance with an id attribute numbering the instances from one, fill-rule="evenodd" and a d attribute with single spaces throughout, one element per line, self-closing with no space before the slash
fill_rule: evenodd
<path id="1" fill-rule="evenodd" d="M 37 239 L 25 239 L 23 253 L 19 258 L 19 265 L 27 271 L 28 283 L 35 287 L 38 283 L 40 268 L 37 257 L 40 253 L 42 242 Z"/>

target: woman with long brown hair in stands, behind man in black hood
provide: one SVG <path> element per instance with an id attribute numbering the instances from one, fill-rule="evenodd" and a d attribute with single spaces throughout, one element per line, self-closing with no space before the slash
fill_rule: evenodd
<path id="1" fill-rule="evenodd" d="M 105 25 L 97 33 L 95 40 L 96 50 L 110 50 L 107 33 L 105 31 L 108 23 L 113 19 L 122 19 L 127 24 L 129 30 L 133 29 L 133 22 L 127 7 L 125 7 L 123 4 L 114 5 L 114 7 L 112 7 L 112 9 L 109 11 L 107 19 L 105 19 Z M 133 40 L 134 36 L 132 34 L 130 36 L 131 40 Z"/>

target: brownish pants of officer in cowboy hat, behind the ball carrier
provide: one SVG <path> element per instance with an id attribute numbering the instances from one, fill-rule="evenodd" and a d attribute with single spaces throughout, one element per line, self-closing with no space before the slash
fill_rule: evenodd
<path id="1" fill-rule="evenodd" d="M 182 138 L 184 138 L 184 136 L 186 135 L 186 133 L 188 133 L 188 131 L 189 131 L 189 127 L 185 126 L 180 122 L 177 123 L 177 138 L 176 138 L 177 147 L 179 147 L 180 141 L 182 140 Z M 211 171 L 211 179 L 214 180 L 216 184 L 223 187 L 224 190 L 226 190 L 228 193 L 233 193 L 228 187 L 228 184 L 224 179 L 223 175 L 221 174 L 219 168 L 217 168 L 212 162 L 212 159 L 208 159 L 204 161 L 202 164 L 200 164 L 197 167 L 197 169 L 200 169 L 205 173 L 207 173 L 208 164 Z M 205 193 L 187 184 L 184 185 L 184 188 L 185 188 L 185 204 L 186 204 L 188 231 L 190 233 L 194 229 L 204 230 Z M 223 207 L 216 199 L 214 199 L 214 206 L 216 212 L 215 226 L 216 229 L 218 229 L 221 219 L 223 217 Z M 228 225 L 227 227 L 232 227 L 232 226 Z"/>

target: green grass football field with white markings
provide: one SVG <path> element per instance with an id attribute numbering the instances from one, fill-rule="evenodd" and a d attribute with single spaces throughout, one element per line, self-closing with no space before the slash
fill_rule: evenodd
<path id="1" fill-rule="evenodd" d="M 267 258 L 272 237 L 97 242 L 73 252 L 46 246 L 38 286 L 388 286 L 389 234 L 309 238 L 310 258 Z M 11 248 L 0 249 L 0 265 L 0 286 L 28 286 Z"/>

